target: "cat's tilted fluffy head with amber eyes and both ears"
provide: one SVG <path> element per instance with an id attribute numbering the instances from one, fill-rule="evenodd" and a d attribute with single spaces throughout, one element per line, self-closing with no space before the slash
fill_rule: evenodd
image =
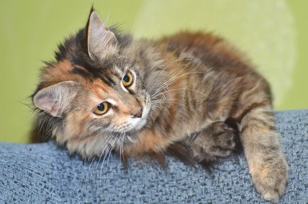
<path id="1" fill-rule="evenodd" d="M 161 70 L 151 46 L 107 28 L 91 10 L 86 27 L 61 44 L 55 58 L 42 69 L 33 94 L 45 132 L 65 142 L 149 125 L 149 89 Z"/>

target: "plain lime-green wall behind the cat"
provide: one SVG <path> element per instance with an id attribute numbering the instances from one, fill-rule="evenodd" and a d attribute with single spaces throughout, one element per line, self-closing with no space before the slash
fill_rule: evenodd
<path id="1" fill-rule="evenodd" d="M 243 50 L 272 84 L 275 109 L 308 108 L 308 1 L 1 1 L 0 142 L 30 142 L 30 103 L 42 60 L 86 23 L 90 7 L 137 37 L 181 29 L 219 33 Z"/>

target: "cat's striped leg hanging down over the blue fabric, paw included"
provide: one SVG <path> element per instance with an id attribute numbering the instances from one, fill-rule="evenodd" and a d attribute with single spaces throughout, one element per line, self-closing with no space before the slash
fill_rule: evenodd
<path id="1" fill-rule="evenodd" d="M 276 131 L 271 97 L 264 81 L 241 96 L 241 141 L 256 190 L 278 202 L 288 182 L 288 165 Z"/>

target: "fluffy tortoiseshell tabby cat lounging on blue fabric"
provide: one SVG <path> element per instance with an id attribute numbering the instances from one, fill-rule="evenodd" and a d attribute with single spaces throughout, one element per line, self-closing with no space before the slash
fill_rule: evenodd
<path id="1" fill-rule="evenodd" d="M 235 149 L 231 119 L 257 192 L 272 202 L 284 195 L 288 165 L 269 84 L 219 36 L 134 40 L 92 8 L 46 66 L 32 95 L 36 123 L 69 152 L 137 158 L 179 146 L 196 162 L 213 161 Z"/>

